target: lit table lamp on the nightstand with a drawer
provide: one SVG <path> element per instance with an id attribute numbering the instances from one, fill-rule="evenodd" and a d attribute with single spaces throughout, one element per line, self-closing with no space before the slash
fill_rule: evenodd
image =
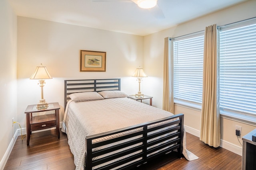
<path id="1" fill-rule="evenodd" d="M 51 78 L 52 76 L 48 72 L 46 66 L 43 66 L 42 63 L 40 64 L 40 66 L 36 67 L 34 74 L 30 77 L 30 79 L 40 79 L 38 84 L 41 87 L 41 100 L 37 104 L 37 107 L 36 107 L 37 109 L 48 108 L 48 103 L 46 103 L 44 99 L 44 84 L 45 84 L 44 79 L 51 79 Z"/>

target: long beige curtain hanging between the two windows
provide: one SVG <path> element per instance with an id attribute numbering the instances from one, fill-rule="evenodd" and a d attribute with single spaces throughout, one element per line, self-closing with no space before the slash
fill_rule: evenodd
<path id="1" fill-rule="evenodd" d="M 220 113 L 217 99 L 217 25 L 205 28 L 203 94 L 200 140 L 213 146 L 220 146 Z"/>

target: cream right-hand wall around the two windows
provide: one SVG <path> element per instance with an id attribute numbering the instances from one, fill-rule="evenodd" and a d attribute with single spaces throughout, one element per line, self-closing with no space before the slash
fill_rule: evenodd
<path id="1" fill-rule="evenodd" d="M 250 0 L 242 4 L 233 6 L 231 8 L 220 10 L 210 15 L 192 20 L 163 31 L 147 35 L 144 37 L 144 68 L 148 75 L 147 87 L 144 90 L 145 94 L 154 96 L 154 106 L 162 108 L 163 97 L 163 55 L 164 55 L 164 38 L 178 37 L 202 31 L 206 26 L 214 23 L 218 25 L 225 25 L 240 20 L 256 17 L 256 0 Z M 175 16 L 174 16 L 175 17 Z M 157 81 L 156 81 L 157 80 Z M 197 135 L 200 131 L 200 111 L 187 109 L 180 106 L 175 106 L 175 113 L 185 114 L 185 125 L 193 129 Z M 222 144 L 226 143 L 237 145 L 241 149 L 241 145 L 235 135 L 235 125 L 242 126 L 242 136 L 256 128 L 254 125 L 248 125 L 239 121 L 234 121 L 226 118 L 221 118 L 221 139 Z M 241 138 L 239 139 L 242 141 Z M 240 152 L 242 153 L 242 152 Z M 240 154 L 239 153 L 239 154 Z"/>

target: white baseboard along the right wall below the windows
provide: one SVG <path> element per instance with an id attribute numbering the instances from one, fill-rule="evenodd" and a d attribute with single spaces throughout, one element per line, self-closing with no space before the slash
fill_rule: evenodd
<path id="1" fill-rule="evenodd" d="M 188 132 L 196 137 L 200 137 L 199 130 L 194 129 L 189 126 L 186 126 L 186 125 L 184 125 L 184 127 L 185 127 L 186 132 Z M 242 147 L 241 146 L 237 146 L 237 145 L 234 145 L 233 143 L 230 143 L 228 141 L 224 141 L 223 139 L 220 139 L 220 147 L 242 156 Z"/>

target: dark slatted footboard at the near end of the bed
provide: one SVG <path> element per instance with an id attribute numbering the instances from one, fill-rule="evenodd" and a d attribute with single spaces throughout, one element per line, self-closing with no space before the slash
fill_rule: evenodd
<path id="1" fill-rule="evenodd" d="M 181 157 L 183 121 L 184 115 L 178 114 L 88 136 L 86 137 L 86 169 L 131 169 L 174 149 L 178 149 Z M 109 138 L 110 135 L 116 137 L 99 140 Z"/>

